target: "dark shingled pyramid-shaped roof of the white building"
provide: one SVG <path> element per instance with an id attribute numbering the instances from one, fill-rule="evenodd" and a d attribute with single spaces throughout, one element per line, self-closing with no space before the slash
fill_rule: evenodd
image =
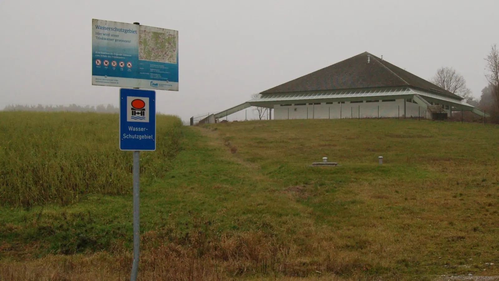
<path id="1" fill-rule="evenodd" d="M 367 55 L 371 60 L 367 63 Z M 462 100 L 460 96 L 418 77 L 386 60 L 363 52 L 289 82 L 260 92 L 283 93 L 314 90 L 412 86 Z"/>

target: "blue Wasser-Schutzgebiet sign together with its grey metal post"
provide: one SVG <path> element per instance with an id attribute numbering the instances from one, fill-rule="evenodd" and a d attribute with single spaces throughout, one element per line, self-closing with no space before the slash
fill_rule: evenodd
<path id="1" fill-rule="evenodd" d="M 140 151 L 156 150 L 156 92 L 120 88 L 120 149 L 133 151 L 133 264 L 137 279 L 140 255 Z"/>

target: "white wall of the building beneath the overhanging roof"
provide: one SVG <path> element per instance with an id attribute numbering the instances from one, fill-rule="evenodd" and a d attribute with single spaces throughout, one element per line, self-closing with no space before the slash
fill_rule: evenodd
<path id="1" fill-rule="evenodd" d="M 418 116 L 417 103 L 406 102 L 408 116 Z M 306 105 L 274 105 L 274 118 L 275 119 L 321 119 L 321 118 L 358 118 L 360 106 L 361 118 L 377 118 L 378 106 L 380 117 L 398 117 L 399 109 L 400 116 L 404 116 L 404 99 L 397 99 L 395 101 L 377 101 L 377 102 L 349 102 L 333 103 L 322 102 L 321 104 L 306 104 Z M 421 109 L 421 116 L 424 117 L 424 109 Z M 428 114 L 429 115 L 429 114 Z M 431 116 L 430 116 L 431 117 Z"/>

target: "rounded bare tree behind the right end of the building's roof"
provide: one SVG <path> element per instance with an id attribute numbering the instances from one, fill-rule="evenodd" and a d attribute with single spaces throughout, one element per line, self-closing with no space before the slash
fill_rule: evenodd
<path id="1" fill-rule="evenodd" d="M 440 67 L 430 81 L 466 100 L 473 98 L 463 75 L 452 67 Z"/>

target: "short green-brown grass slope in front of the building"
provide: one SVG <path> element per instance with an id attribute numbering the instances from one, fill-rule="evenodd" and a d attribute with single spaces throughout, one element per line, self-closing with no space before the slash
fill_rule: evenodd
<path id="1" fill-rule="evenodd" d="M 121 154 L 109 127 L 103 145 Z M 141 280 L 499 274 L 498 126 L 273 120 L 179 131 L 173 152 L 158 145 L 169 168 L 141 185 Z M 323 156 L 340 166 L 307 166 Z M 0 279 L 129 278 L 130 189 L 4 205 Z"/>

